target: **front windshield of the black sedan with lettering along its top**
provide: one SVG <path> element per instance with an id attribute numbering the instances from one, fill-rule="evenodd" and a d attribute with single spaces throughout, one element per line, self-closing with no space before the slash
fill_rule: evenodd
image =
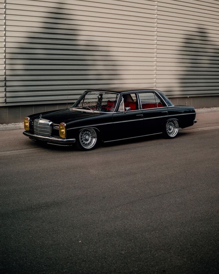
<path id="1" fill-rule="evenodd" d="M 103 91 L 85 91 L 72 108 L 113 112 L 118 100 L 118 94 Z"/>

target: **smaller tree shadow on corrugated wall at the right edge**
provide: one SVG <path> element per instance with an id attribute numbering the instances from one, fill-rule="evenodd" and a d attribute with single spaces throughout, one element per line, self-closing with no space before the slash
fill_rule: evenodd
<path id="1" fill-rule="evenodd" d="M 187 35 L 180 54 L 186 70 L 180 79 L 183 93 L 187 96 L 218 93 L 219 48 L 207 31 L 199 27 L 197 34 Z"/>

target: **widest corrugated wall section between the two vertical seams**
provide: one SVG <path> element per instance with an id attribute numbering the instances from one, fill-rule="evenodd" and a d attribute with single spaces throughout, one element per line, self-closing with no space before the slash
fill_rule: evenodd
<path id="1" fill-rule="evenodd" d="M 7 103 L 155 87 L 156 1 L 7 0 Z"/>

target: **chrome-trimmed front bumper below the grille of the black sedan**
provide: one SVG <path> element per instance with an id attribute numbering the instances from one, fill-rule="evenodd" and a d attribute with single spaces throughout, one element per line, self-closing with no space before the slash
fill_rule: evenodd
<path id="1" fill-rule="evenodd" d="M 43 141 L 47 144 L 54 144 L 59 146 L 71 146 L 73 143 L 75 143 L 75 139 L 65 139 L 65 138 L 58 138 L 58 137 L 52 137 L 52 136 L 41 136 L 34 133 L 30 133 L 29 131 L 24 131 L 23 134 L 25 136 L 28 136 L 31 140 L 34 141 Z"/>

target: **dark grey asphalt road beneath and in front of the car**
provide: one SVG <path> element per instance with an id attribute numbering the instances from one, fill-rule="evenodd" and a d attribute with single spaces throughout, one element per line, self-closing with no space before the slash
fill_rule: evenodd
<path id="1" fill-rule="evenodd" d="M 90 152 L 0 132 L 0 273 L 219 273 L 219 113 Z"/>

